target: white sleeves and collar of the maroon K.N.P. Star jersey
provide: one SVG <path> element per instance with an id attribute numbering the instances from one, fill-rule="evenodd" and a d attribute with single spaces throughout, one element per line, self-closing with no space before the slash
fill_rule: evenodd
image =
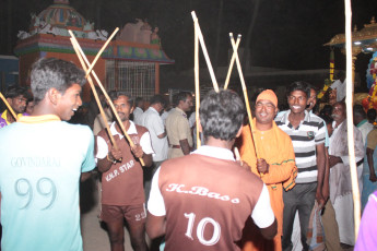
<path id="1" fill-rule="evenodd" d="M 113 135 L 119 135 L 120 139 L 123 138 L 123 134 L 120 134 L 117 129 L 115 128 L 116 122 L 113 122 L 110 125 L 110 132 Z M 137 127 L 134 123 L 130 120 L 130 128 L 127 130 L 127 134 L 137 134 Z M 151 136 L 149 132 L 145 132 L 141 139 L 140 139 L 140 146 L 143 150 L 145 154 L 153 154 L 153 148 L 151 145 Z M 96 160 L 98 158 L 103 159 L 108 154 L 108 146 L 106 144 L 106 141 L 102 136 L 97 136 L 97 154 L 96 154 Z"/>

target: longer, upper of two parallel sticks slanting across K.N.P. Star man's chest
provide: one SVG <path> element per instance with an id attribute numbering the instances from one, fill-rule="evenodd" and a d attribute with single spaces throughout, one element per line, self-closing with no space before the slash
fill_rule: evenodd
<path id="1" fill-rule="evenodd" d="M 76 45 L 76 47 L 78 47 L 78 49 L 79 49 L 79 51 L 80 51 L 82 58 L 85 60 L 86 64 L 90 65 L 90 62 L 89 62 L 89 60 L 87 60 L 87 58 L 86 58 L 84 51 L 81 49 L 81 47 L 80 47 L 78 40 L 75 39 L 73 33 L 72 33 L 71 31 L 69 31 L 69 33 L 70 33 L 70 35 L 71 35 L 72 40 L 73 40 L 74 44 Z M 125 125 L 123 125 L 123 123 L 121 122 L 121 120 L 120 120 L 120 118 L 119 118 L 119 115 L 118 115 L 117 110 L 115 109 L 114 104 L 113 104 L 110 97 L 108 96 L 106 89 L 104 88 L 103 84 L 101 83 L 101 81 L 99 81 L 97 74 L 95 73 L 95 71 L 92 71 L 92 74 L 93 74 L 94 79 L 97 81 L 97 84 L 98 84 L 99 88 L 102 89 L 103 94 L 105 95 L 105 97 L 106 97 L 106 99 L 107 99 L 107 101 L 108 101 L 108 104 L 109 104 L 109 106 L 110 106 L 110 108 L 111 108 L 111 110 L 113 110 L 113 113 L 114 113 L 114 116 L 116 117 L 117 122 L 119 123 L 119 127 L 120 127 L 120 129 L 121 129 L 121 131 L 122 131 L 125 138 L 126 138 L 127 141 L 129 142 L 131 148 L 134 147 L 133 141 L 132 141 L 132 140 L 130 139 L 130 136 L 128 135 L 128 133 L 127 133 L 127 131 L 126 131 L 126 129 L 125 129 Z M 139 158 L 139 160 L 140 160 L 140 163 L 141 163 L 142 166 L 145 166 L 144 160 L 143 160 L 142 158 Z"/>

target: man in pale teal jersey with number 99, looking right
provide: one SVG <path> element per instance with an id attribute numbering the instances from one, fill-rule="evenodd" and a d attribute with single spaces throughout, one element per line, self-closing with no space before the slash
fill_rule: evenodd
<path id="1" fill-rule="evenodd" d="M 94 138 L 89 127 L 61 120 L 82 105 L 85 82 L 73 63 L 39 59 L 31 72 L 32 115 L 0 130 L 3 251 L 83 250 L 79 181 L 95 167 Z"/>

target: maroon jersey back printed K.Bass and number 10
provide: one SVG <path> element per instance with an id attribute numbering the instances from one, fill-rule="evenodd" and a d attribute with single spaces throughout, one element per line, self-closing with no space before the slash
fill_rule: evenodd
<path id="1" fill-rule="evenodd" d="M 220 150 L 222 157 L 226 155 Z M 165 250 L 239 250 L 236 241 L 245 222 L 258 214 L 255 205 L 263 188 L 267 192 L 261 180 L 239 164 L 202 154 L 167 160 L 155 177 L 166 207 Z M 154 194 L 150 198 L 149 211 L 158 214 L 161 205 Z M 267 222 L 264 227 L 273 219 L 259 217 Z"/>

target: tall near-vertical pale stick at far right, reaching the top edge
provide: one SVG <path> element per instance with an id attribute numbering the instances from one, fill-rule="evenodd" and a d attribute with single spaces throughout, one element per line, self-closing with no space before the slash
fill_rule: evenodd
<path id="1" fill-rule="evenodd" d="M 345 105 L 346 105 L 346 127 L 350 155 L 350 170 L 353 196 L 353 214 L 355 223 L 355 240 L 358 235 L 361 206 L 360 206 L 360 191 L 357 182 L 357 167 L 355 159 L 355 142 L 353 134 L 353 75 L 352 75 L 352 10 L 351 0 L 344 0 L 345 9 L 345 51 L 346 51 L 346 87 L 345 87 Z"/>

